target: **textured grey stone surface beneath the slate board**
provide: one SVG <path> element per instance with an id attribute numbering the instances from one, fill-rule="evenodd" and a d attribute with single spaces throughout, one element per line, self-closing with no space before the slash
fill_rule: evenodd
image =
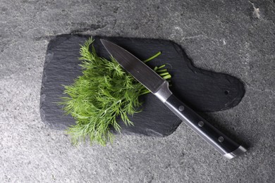
<path id="1" fill-rule="evenodd" d="M 274 1 L 1 1 L 0 182 L 273 182 L 274 30 Z M 171 39 L 197 67 L 239 77 L 243 101 L 204 117 L 247 153 L 226 160 L 184 124 L 71 146 L 39 116 L 49 37 L 70 32 Z"/>

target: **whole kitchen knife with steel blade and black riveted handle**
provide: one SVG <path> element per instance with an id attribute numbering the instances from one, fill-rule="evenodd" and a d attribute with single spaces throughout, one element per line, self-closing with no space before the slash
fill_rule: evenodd
<path id="1" fill-rule="evenodd" d="M 157 96 L 178 118 L 183 120 L 189 127 L 197 132 L 202 139 L 212 145 L 214 149 L 219 151 L 223 156 L 231 159 L 247 151 L 243 146 L 227 137 L 207 122 L 207 120 L 204 120 L 204 118 L 186 106 L 185 103 L 177 99 L 170 91 L 169 83 L 145 63 L 133 56 L 133 54 L 107 40 L 100 39 L 100 41 L 122 68 L 149 89 L 149 91 Z"/>

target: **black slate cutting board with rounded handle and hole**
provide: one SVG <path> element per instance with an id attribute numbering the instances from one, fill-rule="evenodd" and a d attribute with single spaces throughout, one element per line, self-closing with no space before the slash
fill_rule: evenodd
<path id="1" fill-rule="evenodd" d="M 56 105 L 63 96 L 62 85 L 73 83 L 81 75 L 78 64 L 80 44 L 89 36 L 59 35 L 49 42 L 42 77 L 40 113 L 42 121 L 56 130 L 74 125 L 70 115 L 64 115 Z M 172 75 L 172 92 L 195 111 L 222 111 L 236 106 L 245 94 L 243 83 L 236 77 L 223 73 L 195 68 L 181 46 L 159 39 L 137 39 L 123 37 L 94 37 L 94 46 L 99 56 L 109 58 L 99 39 L 108 39 L 127 49 L 141 60 L 161 51 L 161 56 L 149 62 L 150 66 L 168 64 Z M 133 116 L 135 126 L 120 122 L 123 133 L 145 134 L 165 137 L 181 124 L 154 95 L 142 97 L 143 110 Z"/>

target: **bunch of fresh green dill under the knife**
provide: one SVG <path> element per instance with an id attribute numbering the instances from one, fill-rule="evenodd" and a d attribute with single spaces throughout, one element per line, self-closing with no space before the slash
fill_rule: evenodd
<path id="1" fill-rule="evenodd" d="M 63 86 L 66 97 L 61 98 L 63 111 L 75 119 L 76 125 L 68 127 L 73 144 L 85 141 L 88 137 L 91 143 L 106 145 L 112 141 L 114 134 L 109 130 L 113 126 L 118 132 L 121 127 L 117 118 L 120 117 L 126 125 L 133 125 L 128 115 L 140 112 L 138 97 L 149 91 L 129 75 L 111 58 L 97 56 L 92 38 L 80 45 L 80 64 L 82 75 L 73 84 Z M 91 49 L 90 49 L 91 48 Z M 152 60 L 160 54 L 148 58 Z M 155 67 L 154 70 L 164 79 L 171 75 L 165 65 Z"/>

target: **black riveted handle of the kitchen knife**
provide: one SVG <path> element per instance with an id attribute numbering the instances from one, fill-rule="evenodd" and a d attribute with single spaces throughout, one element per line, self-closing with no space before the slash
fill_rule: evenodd
<path id="1" fill-rule="evenodd" d="M 231 159 L 247 151 L 243 146 L 240 146 L 240 144 L 237 144 L 216 129 L 207 120 L 204 120 L 173 94 L 169 96 L 164 104 L 226 158 Z"/>

